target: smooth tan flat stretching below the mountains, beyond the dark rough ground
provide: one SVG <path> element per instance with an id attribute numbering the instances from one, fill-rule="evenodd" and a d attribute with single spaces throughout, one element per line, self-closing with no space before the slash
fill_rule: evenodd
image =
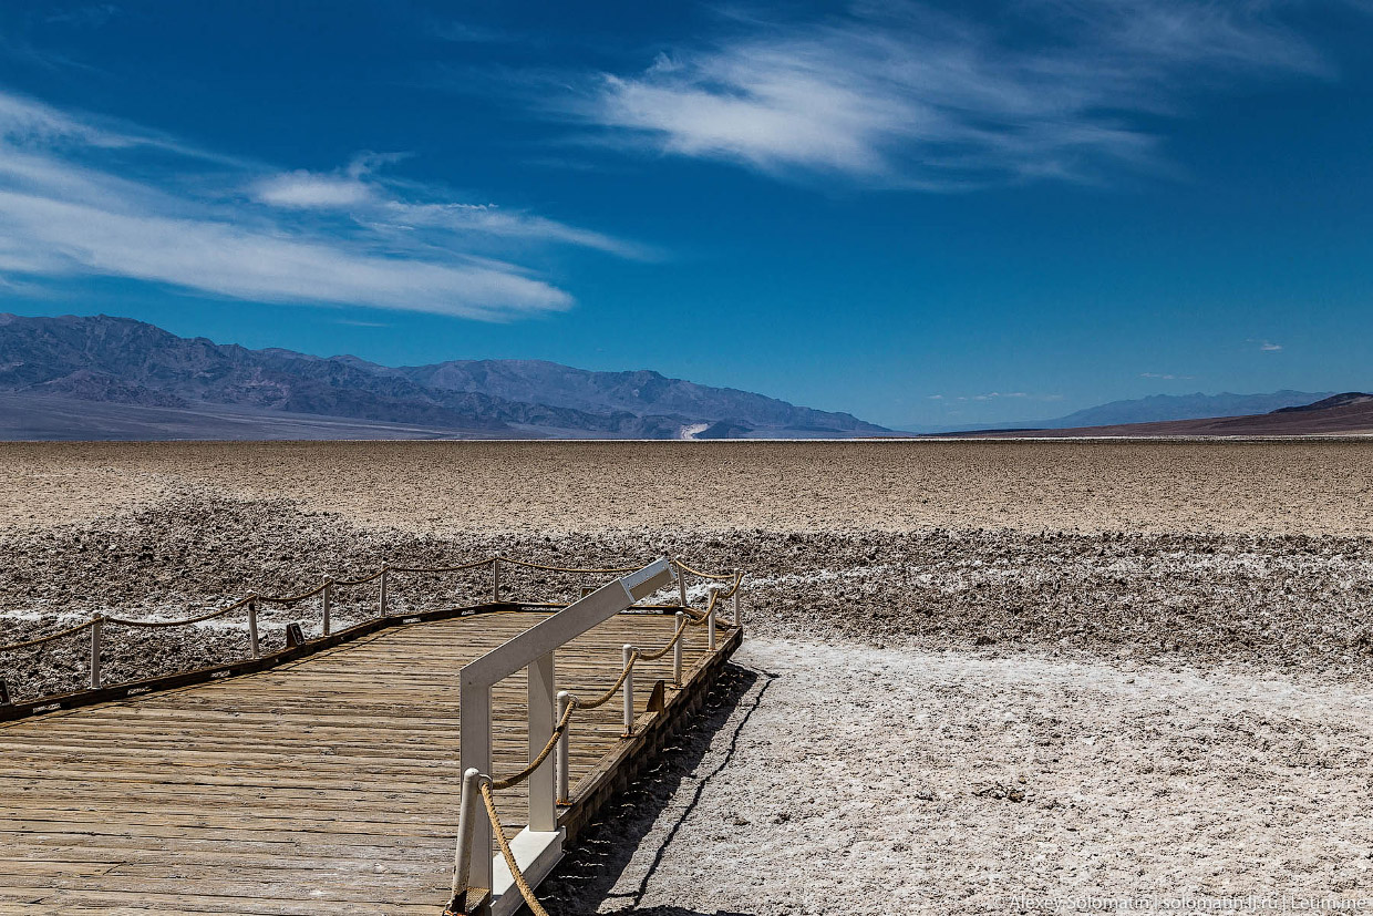
<path id="1" fill-rule="evenodd" d="M 11 442 L 0 519 L 291 496 L 415 531 L 1373 530 L 1373 442 Z"/>

